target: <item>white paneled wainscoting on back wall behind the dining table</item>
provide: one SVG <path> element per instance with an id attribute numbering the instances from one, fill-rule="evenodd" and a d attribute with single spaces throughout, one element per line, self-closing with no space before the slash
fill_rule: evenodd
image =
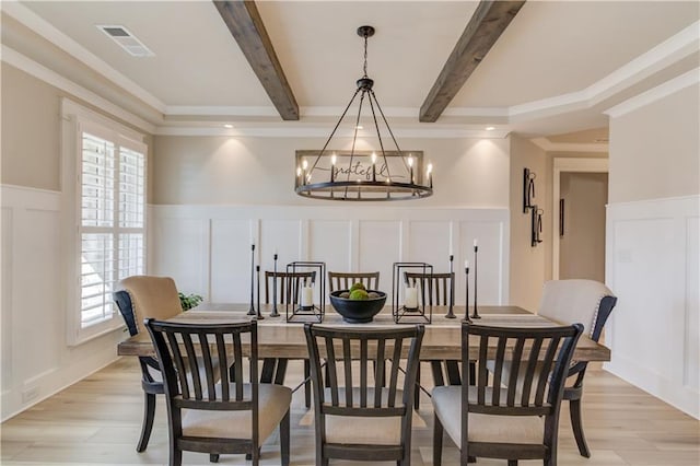
<path id="1" fill-rule="evenodd" d="M 327 270 L 381 272 L 390 294 L 393 264 L 427 261 L 446 271 L 455 255 L 455 302 L 464 304 L 464 260 L 479 238 L 479 302 L 509 302 L 506 209 L 404 207 L 151 206 L 150 272 L 174 277 L 186 293 L 213 302 L 248 302 L 250 244 L 256 264 L 278 270 L 322 260 Z M 203 255 L 203 257 L 202 257 Z M 210 271 L 199 280 L 194 270 Z M 325 279 L 325 277 L 324 277 Z M 262 294 L 265 290 L 262 288 Z"/>

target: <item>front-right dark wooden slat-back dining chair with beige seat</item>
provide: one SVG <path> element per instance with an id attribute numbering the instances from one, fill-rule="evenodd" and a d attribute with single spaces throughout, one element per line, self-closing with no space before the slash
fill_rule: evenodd
<path id="1" fill-rule="evenodd" d="M 517 328 L 463 323 L 463 366 L 475 360 L 469 345 L 472 338 L 478 340 L 476 380 L 472 385 L 466 371 L 462 385 L 433 388 L 433 465 L 442 465 L 446 431 L 459 448 L 463 466 L 470 457 L 508 459 L 509 466 L 518 459 L 542 459 L 544 465 L 556 466 L 564 381 L 582 333 L 581 324 Z M 490 340 L 495 356 L 489 354 Z M 492 376 L 488 361 L 494 362 Z M 506 362 L 510 372 L 503 370 Z M 517 391 L 521 375 L 522 391 Z"/>

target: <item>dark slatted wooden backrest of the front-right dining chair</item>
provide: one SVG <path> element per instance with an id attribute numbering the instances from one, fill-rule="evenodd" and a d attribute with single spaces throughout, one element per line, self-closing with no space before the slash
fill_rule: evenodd
<path id="1" fill-rule="evenodd" d="M 471 375 L 466 371 L 467 380 L 463 385 L 463 403 L 467 406 L 467 411 L 546 416 L 551 413 L 552 409 L 558 409 L 563 395 L 563 374 L 582 331 L 581 324 L 565 327 L 515 328 L 465 323 L 463 364 L 469 362 L 469 338 L 479 338 L 476 381 L 470 381 Z M 494 356 L 489 354 L 489 339 L 495 339 Z M 492 364 L 491 378 L 486 369 L 489 363 Z M 509 373 L 508 380 L 503 380 L 504 372 Z M 472 382 L 476 383 L 476 387 L 471 388 L 476 389 L 476 396 L 469 395 L 469 385 Z M 504 388 L 504 385 L 508 387 Z"/>

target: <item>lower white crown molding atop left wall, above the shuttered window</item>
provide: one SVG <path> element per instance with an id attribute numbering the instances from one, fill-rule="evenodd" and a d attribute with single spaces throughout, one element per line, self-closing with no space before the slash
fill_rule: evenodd
<path id="1" fill-rule="evenodd" d="M 113 104 L 106 98 L 95 94 L 94 92 L 75 84 L 73 81 L 63 78 L 57 72 L 49 70 L 43 65 L 37 63 L 36 61 L 25 57 L 19 51 L 3 45 L 1 53 L 2 61 L 11 65 L 27 74 L 33 75 L 49 85 L 52 85 L 68 94 L 71 94 L 89 104 L 94 105 L 97 108 L 102 108 L 104 112 L 119 118 L 135 127 L 139 128 L 142 131 L 148 133 L 153 133 L 155 131 L 155 125 L 133 115 L 130 112 L 125 110 L 118 105 Z"/>

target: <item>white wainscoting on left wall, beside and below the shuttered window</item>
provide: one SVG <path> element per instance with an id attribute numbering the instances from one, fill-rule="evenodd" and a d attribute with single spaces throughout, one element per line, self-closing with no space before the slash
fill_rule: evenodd
<path id="1" fill-rule="evenodd" d="M 61 194 L 0 186 L 2 199 L 2 420 L 114 361 L 119 329 L 67 343 Z M 75 278 L 74 280 L 78 280 Z M 72 281 L 73 283 L 75 281 Z"/>

